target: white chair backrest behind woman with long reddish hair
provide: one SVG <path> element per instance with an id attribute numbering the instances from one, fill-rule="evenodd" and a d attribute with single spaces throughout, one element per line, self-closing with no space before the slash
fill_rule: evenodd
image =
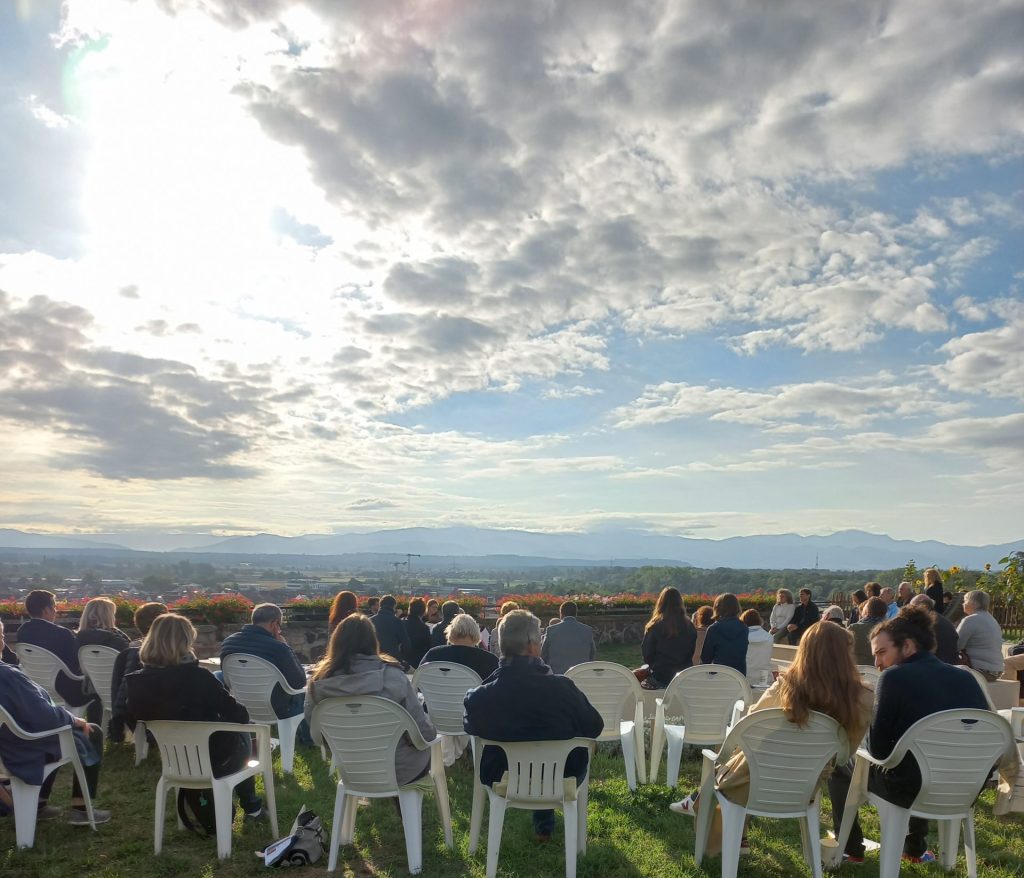
<path id="1" fill-rule="evenodd" d="M 840 725 L 811 711 L 804 725 L 781 708 L 757 710 L 737 722 L 722 748 L 742 750 L 751 771 L 746 807 L 766 813 L 804 811 L 814 799 L 825 765 L 841 747 Z"/>

